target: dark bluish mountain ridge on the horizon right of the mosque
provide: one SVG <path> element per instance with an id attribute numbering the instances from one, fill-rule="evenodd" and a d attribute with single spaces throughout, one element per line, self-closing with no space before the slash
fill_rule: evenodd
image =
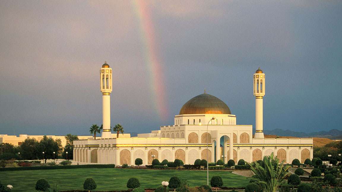
<path id="1" fill-rule="evenodd" d="M 286 137 L 319 137 L 319 138 L 328 138 L 334 140 L 342 139 L 342 131 L 338 129 L 331 129 L 330 131 L 320 131 L 320 132 L 312 132 L 312 133 L 304 133 L 304 132 L 294 132 L 282 129 L 273 129 L 273 130 L 264 130 L 264 134 L 266 135 L 278 135 L 278 136 L 286 136 Z"/>

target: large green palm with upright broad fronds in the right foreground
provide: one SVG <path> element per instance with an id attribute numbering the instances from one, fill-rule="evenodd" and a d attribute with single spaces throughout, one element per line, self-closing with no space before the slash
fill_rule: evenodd
<path id="1" fill-rule="evenodd" d="M 260 184 L 265 192 L 275 192 L 279 185 L 284 184 L 284 177 L 289 175 L 289 165 L 284 165 L 285 160 L 279 164 L 279 159 L 273 153 L 263 158 L 264 166 L 256 161 L 248 163 L 255 174 L 250 179 Z"/>

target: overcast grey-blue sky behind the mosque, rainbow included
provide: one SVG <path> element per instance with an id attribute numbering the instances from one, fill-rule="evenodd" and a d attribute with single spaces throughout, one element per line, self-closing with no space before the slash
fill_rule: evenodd
<path id="1" fill-rule="evenodd" d="M 105 61 L 111 125 L 125 132 L 173 125 L 204 88 L 255 127 L 258 67 L 265 130 L 342 130 L 341 10 L 339 0 L 1 0 L 0 134 L 89 135 L 102 124 Z"/>

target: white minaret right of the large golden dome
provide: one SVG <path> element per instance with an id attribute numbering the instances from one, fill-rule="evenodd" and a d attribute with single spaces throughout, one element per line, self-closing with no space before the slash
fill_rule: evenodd
<path id="1" fill-rule="evenodd" d="M 263 104 L 262 97 L 265 95 L 265 74 L 259 68 L 253 75 L 253 91 L 255 96 L 255 135 L 254 138 L 264 138 L 262 132 Z"/>

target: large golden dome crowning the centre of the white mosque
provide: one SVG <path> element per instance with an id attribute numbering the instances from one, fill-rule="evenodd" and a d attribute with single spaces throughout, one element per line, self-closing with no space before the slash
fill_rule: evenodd
<path id="1" fill-rule="evenodd" d="M 179 114 L 231 114 L 231 110 L 221 99 L 203 93 L 188 100 Z"/>

